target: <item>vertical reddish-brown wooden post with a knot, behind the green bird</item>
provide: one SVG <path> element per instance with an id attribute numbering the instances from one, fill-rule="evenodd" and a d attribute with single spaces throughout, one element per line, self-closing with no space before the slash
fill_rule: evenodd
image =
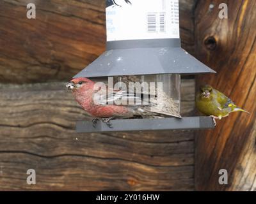
<path id="1" fill-rule="evenodd" d="M 220 19 L 220 3 L 228 19 Z M 210 4 L 214 8 L 210 8 Z M 217 75 L 198 77 L 211 84 L 246 113 L 231 113 L 214 130 L 200 131 L 195 145 L 196 190 L 255 191 L 255 1 L 198 1 L 195 10 L 196 57 Z M 219 170 L 228 171 L 228 185 L 220 185 Z"/>

